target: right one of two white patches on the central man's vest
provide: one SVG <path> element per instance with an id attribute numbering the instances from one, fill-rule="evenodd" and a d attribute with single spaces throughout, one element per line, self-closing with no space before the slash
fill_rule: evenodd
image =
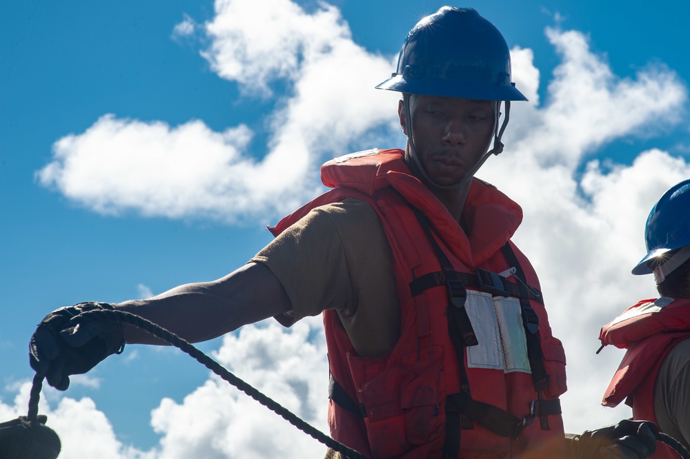
<path id="1" fill-rule="evenodd" d="M 501 333 L 506 373 L 513 371 L 531 373 L 520 300 L 513 297 L 495 296 L 493 297 L 493 304 L 496 308 L 498 329 Z"/>

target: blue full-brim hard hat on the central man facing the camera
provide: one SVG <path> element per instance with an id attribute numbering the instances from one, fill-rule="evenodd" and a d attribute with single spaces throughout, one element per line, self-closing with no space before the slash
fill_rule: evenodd
<path id="1" fill-rule="evenodd" d="M 444 6 L 407 34 L 397 71 L 378 89 L 487 101 L 526 101 L 511 81 L 511 53 L 473 8 Z"/>

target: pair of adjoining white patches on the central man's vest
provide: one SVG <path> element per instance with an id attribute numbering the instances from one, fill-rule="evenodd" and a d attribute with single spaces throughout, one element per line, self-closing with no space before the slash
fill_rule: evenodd
<path id="1" fill-rule="evenodd" d="M 465 309 L 479 342 L 466 347 L 468 367 L 531 373 L 517 298 L 468 290 Z"/>

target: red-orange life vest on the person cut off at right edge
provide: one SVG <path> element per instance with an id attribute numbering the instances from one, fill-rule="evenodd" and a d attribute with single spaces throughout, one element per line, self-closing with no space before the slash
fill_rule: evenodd
<path id="1" fill-rule="evenodd" d="M 690 300 L 642 300 L 602 327 L 602 345 L 627 349 L 607 387 L 602 405 L 618 406 L 622 400 L 633 409 L 634 420 L 657 423 L 654 385 L 671 348 L 690 338 Z M 657 444 L 652 459 L 675 459 L 678 453 Z"/>

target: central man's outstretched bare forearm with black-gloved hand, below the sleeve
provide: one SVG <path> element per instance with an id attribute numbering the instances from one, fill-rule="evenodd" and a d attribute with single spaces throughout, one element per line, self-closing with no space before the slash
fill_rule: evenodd
<path id="1" fill-rule="evenodd" d="M 48 384 L 66 390 L 71 375 L 86 373 L 103 358 L 120 352 L 124 343 L 165 344 L 115 320 L 72 320 L 83 312 L 112 307 L 196 343 L 287 312 L 290 300 L 268 267 L 250 263 L 217 281 L 181 285 L 146 300 L 61 307 L 43 318 L 31 337 L 31 367 L 45 376 Z"/>

